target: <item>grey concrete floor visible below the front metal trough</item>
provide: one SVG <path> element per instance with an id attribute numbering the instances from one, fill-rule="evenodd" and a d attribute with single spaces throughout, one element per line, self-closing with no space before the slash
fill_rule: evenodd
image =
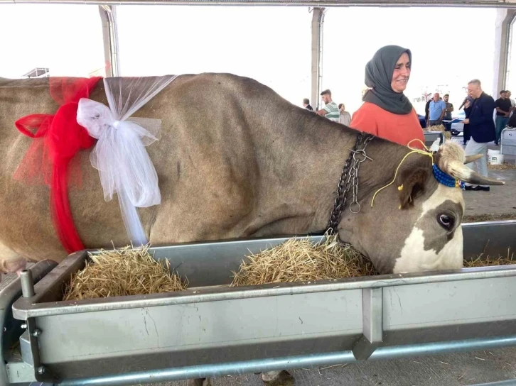
<path id="1" fill-rule="evenodd" d="M 515 380 L 516 348 L 338 365 L 291 372 L 296 386 L 462 386 Z M 161 383 L 186 386 L 186 381 Z M 220 377 L 213 386 L 263 386 L 259 375 Z"/>

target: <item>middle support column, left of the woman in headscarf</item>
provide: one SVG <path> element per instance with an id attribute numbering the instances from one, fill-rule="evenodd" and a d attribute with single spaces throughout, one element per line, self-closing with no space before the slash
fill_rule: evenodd
<path id="1" fill-rule="evenodd" d="M 312 10 L 312 75 L 311 75 L 311 100 L 313 109 L 320 109 L 321 92 L 323 91 L 323 23 L 325 8 L 313 8 Z"/>

